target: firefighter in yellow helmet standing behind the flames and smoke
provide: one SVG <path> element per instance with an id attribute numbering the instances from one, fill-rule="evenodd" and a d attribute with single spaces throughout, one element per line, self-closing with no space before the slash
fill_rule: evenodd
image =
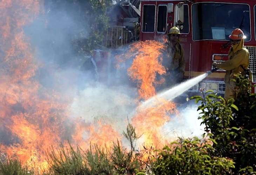
<path id="1" fill-rule="evenodd" d="M 167 34 L 168 43 L 162 57 L 162 64 L 167 73 L 162 89 L 182 82 L 184 77 L 185 59 L 184 49 L 179 43 L 180 35 L 180 30 L 177 27 L 172 27 Z"/>

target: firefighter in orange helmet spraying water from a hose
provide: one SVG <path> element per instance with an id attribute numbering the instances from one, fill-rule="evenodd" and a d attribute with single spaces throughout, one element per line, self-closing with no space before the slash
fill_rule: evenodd
<path id="1" fill-rule="evenodd" d="M 221 63 L 213 62 L 213 67 L 226 70 L 224 77 L 225 82 L 225 94 L 224 98 L 227 100 L 233 98 L 233 92 L 235 82 L 231 81 L 235 79 L 235 74 L 244 73 L 249 66 L 249 51 L 244 47 L 244 33 L 241 29 L 234 29 L 229 35 L 231 41 L 231 47 L 228 52 L 228 60 Z"/>

